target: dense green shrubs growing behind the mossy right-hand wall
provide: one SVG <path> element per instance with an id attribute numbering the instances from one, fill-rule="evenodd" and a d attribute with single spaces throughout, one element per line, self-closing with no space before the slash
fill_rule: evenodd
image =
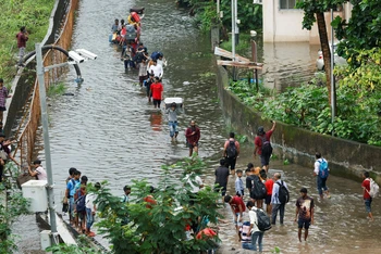
<path id="1" fill-rule="evenodd" d="M 361 61 L 361 66 L 356 69 L 336 69 L 340 82 L 336 89 L 337 116 L 333 124 L 327 87 L 319 86 L 322 82 L 319 77 L 310 84 L 287 88 L 280 94 L 271 93 L 262 87 L 257 93 L 247 80 L 231 82 L 229 89 L 244 103 L 261 112 L 265 118 L 381 145 L 381 50 L 362 51 L 358 58 L 361 56 L 369 58 L 370 61 Z"/>

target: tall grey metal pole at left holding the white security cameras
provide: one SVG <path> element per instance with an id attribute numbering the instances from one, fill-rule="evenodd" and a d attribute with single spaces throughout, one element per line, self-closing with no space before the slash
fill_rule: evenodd
<path id="1" fill-rule="evenodd" d="M 41 123 L 44 131 L 44 148 L 45 148 L 45 162 L 48 176 L 48 207 L 50 215 L 50 239 L 51 244 L 56 245 L 57 221 L 56 221 L 56 205 L 54 205 L 54 191 L 53 191 L 53 173 L 51 169 L 51 156 L 50 156 L 50 142 L 49 142 L 49 129 L 48 129 L 48 112 L 47 112 L 47 100 L 46 100 L 46 88 L 45 88 L 45 77 L 44 77 L 44 64 L 42 64 L 42 50 L 41 45 L 36 43 L 36 61 L 37 61 L 37 79 L 38 79 L 38 90 L 39 90 L 39 102 L 41 105 Z"/>

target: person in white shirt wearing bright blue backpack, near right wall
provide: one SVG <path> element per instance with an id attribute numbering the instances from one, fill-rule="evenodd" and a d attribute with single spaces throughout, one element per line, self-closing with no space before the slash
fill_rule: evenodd
<path id="1" fill-rule="evenodd" d="M 331 198 L 330 191 L 328 190 L 328 187 L 325 185 L 329 175 L 328 162 L 325 158 L 321 157 L 321 154 L 319 152 L 315 154 L 315 157 L 316 162 L 314 165 L 314 176 L 316 176 L 320 199 L 322 200 L 324 198 L 323 190 L 325 192 L 327 198 L 329 199 Z"/>

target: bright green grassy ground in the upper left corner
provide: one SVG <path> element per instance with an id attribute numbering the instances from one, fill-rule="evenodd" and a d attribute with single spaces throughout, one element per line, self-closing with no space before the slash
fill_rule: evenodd
<path id="1" fill-rule="evenodd" d="M 0 77 L 5 84 L 16 74 L 17 41 L 15 35 L 21 26 L 26 26 L 29 40 L 26 51 L 34 50 L 35 43 L 45 37 L 50 12 L 54 1 L 51 0 L 5 0 L 0 1 Z"/>

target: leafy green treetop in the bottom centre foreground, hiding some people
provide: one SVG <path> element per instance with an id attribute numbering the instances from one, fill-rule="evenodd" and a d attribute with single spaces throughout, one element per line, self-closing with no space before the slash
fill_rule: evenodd
<path id="1" fill-rule="evenodd" d="M 122 203 L 102 185 L 96 200 L 101 221 L 100 232 L 112 244 L 112 252 L 122 253 L 199 253 L 210 249 L 214 242 L 187 238 L 185 229 L 194 221 L 208 217 L 217 223 L 218 193 L 211 187 L 198 192 L 195 204 L 189 204 L 189 186 L 183 176 L 200 174 L 205 164 L 198 157 L 185 158 L 174 165 L 163 166 L 157 191 L 149 193 L 146 180 L 134 180 L 132 200 Z M 173 176 L 181 176 L 181 179 Z M 192 179 L 192 178 L 190 178 Z M 145 202 L 151 195 L 156 204 Z M 219 241 L 218 238 L 214 239 Z"/>

